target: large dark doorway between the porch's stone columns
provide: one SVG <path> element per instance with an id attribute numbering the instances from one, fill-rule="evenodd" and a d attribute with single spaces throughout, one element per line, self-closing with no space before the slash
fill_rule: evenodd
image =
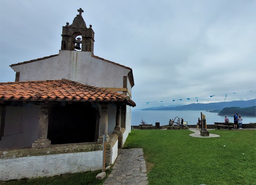
<path id="1" fill-rule="evenodd" d="M 87 102 L 62 102 L 52 107 L 48 139 L 51 144 L 93 142 L 96 110 Z"/>

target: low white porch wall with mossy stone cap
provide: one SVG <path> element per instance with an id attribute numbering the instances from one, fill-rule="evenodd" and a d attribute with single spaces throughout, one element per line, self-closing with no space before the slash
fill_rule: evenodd
<path id="1" fill-rule="evenodd" d="M 118 154 L 118 137 L 109 135 L 106 165 Z M 65 173 L 95 171 L 102 167 L 102 144 L 56 144 L 46 148 L 9 148 L 0 150 L 0 182 L 31 177 L 50 177 Z"/>

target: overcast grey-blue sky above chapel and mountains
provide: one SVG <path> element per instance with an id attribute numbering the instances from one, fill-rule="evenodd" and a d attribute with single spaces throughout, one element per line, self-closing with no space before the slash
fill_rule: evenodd
<path id="1" fill-rule="evenodd" d="M 132 68 L 136 109 L 256 98 L 256 0 L 0 0 L 0 82 L 58 54 L 79 8 L 94 54 Z"/>

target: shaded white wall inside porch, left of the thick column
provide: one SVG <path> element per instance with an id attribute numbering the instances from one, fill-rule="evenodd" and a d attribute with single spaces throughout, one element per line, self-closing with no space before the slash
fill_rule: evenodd
<path id="1" fill-rule="evenodd" d="M 40 106 L 6 106 L 4 136 L 0 148 L 32 146 L 38 139 Z"/>

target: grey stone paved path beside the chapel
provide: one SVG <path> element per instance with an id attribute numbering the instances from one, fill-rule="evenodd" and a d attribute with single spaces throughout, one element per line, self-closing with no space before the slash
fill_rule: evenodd
<path id="1" fill-rule="evenodd" d="M 147 185 L 146 162 L 142 148 L 122 149 L 105 185 Z"/>

